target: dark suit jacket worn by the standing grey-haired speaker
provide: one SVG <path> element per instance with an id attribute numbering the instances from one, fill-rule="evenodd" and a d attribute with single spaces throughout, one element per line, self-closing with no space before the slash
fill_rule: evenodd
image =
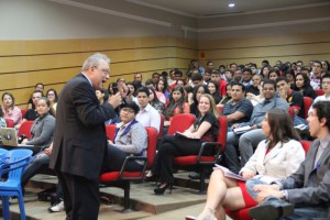
<path id="1" fill-rule="evenodd" d="M 69 80 L 57 103 L 50 167 L 98 180 L 107 147 L 105 121 L 114 116 L 111 105 L 99 105 L 82 74 Z"/>

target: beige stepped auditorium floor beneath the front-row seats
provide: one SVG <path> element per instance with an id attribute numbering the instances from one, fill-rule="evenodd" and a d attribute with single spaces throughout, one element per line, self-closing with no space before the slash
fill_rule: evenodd
<path id="1" fill-rule="evenodd" d="M 100 207 L 99 220 L 183 220 L 185 216 L 198 216 L 202 210 L 206 195 L 199 195 L 196 182 L 187 178 L 188 173 L 176 174 L 176 180 L 180 186 L 173 188 L 172 194 L 167 190 L 163 196 L 156 196 L 153 193 L 152 183 L 135 183 L 131 185 L 131 207 L 133 211 L 122 212 L 123 207 L 120 201 L 123 197 L 123 190 L 117 187 L 101 187 L 101 194 L 108 197 L 111 202 L 102 202 Z M 54 176 L 36 175 L 26 188 L 25 211 L 28 220 L 56 220 L 65 219 L 65 212 L 50 213 L 47 208 L 50 202 L 38 201 L 36 193 L 50 188 L 56 184 Z M 18 202 L 14 201 L 10 210 L 12 220 L 20 219 Z M 230 219 L 230 218 L 227 218 Z"/>

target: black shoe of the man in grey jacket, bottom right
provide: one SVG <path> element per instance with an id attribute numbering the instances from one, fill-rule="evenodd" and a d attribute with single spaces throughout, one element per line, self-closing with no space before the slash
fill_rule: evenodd
<path id="1" fill-rule="evenodd" d="M 294 205 L 277 198 L 271 198 L 261 205 L 250 209 L 250 217 L 255 220 L 276 220 L 294 212 Z"/>

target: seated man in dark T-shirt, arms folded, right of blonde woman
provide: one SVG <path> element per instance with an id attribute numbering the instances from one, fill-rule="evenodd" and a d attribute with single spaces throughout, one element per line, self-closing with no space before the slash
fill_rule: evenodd
<path id="1" fill-rule="evenodd" d="M 245 87 L 240 82 L 231 84 L 231 100 L 223 106 L 222 114 L 226 116 L 228 128 L 232 124 L 248 122 L 253 111 L 249 99 L 244 98 Z"/>

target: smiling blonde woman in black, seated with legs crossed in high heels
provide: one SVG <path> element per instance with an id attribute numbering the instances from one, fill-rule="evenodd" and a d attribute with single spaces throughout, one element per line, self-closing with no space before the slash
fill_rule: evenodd
<path id="1" fill-rule="evenodd" d="M 157 195 L 173 186 L 173 156 L 197 155 L 202 142 L 217 140 L 219 124 L 218 110 L 211 95 L 201 95 L 198 105 L 199 118 L 184 132 L 185 136 L 165 135 L 162 139 L 155 164 L 146 175 L 146 180 L 158 178 L 161 185 L 154 189 Z M 212 155 L 215 152 L 206 152 Z"/>

